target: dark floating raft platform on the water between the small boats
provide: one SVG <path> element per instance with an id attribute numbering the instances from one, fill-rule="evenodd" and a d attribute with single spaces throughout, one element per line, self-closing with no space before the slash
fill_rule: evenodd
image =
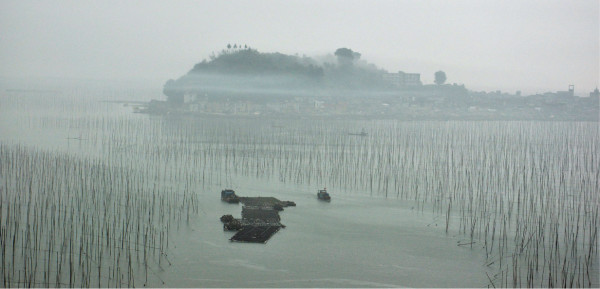
<path id="1" fill-rule="evenodd" d="M 281 224 L 279 211 L 295 206 L 294 202 L 280 201 L 273 197 L 240 197 L 242 228 L 229 240 L 234 242 L 266 243 L 285 225 Z"/>

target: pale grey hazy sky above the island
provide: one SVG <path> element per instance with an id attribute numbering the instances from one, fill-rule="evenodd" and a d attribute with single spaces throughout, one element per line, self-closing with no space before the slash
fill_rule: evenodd
<path id="1" fill-rule="evenodd" d="M 228 43 L 308 56 L 348 47 L 391 72 L 472 90 L 599 85 L 599 2 L 0 0 L 0 76 L 162 85 Z"/>

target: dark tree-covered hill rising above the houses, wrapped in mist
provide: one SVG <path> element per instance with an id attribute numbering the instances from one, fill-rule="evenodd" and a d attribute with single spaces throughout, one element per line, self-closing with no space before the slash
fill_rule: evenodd
<path id="1" fill-rule="evenodd" d="M 164 94 L 182 101 L 186 93 L 207 96 L 328 93 L 339 90 L 389 89 L 385 70 L 360 59 L 348 48 L 313 59 L 283 53 L 262 53 L 228 45 L 182 77 L 169 80 Z"/>

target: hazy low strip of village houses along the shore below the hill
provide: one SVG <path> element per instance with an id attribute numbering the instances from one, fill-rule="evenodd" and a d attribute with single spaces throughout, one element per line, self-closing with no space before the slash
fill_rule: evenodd
<path id="1" fill-rule="evenodd" d="M 577 97 L 566 91 L 521 96 L 473 92 L 464 85 L 423 85 L 418 73 L 387 73 L 396 89 L 378 92 L 298 91 L 285 95 L 188 92 L 183 103 L 152 101 L 138 112 L 198 115 L 354 115 L 407 119 L 598 120 L 598 89 Z"/>

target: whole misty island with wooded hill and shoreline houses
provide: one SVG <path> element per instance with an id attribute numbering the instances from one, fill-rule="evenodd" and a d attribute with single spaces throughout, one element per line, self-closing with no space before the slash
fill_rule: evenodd
<path id="1" fill-rule="evenodd" d="M 352 116 L 407 120 L 507 119 L 598 121 L 598 92 L 577 97 L 574 87 L 542 95 L 469 91 L 445 84 L 423 85 L 418 73 L 389 73 L 349 48 L 322 58 L 263 53 L 231 45 L 176 80 L 166 101 L 138 112 L 238 116 Z"/>

